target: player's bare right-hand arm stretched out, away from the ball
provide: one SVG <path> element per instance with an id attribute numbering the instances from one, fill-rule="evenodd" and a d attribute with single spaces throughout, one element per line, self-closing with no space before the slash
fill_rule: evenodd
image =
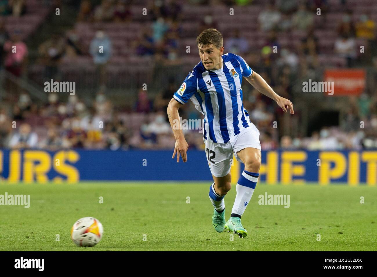
<path id="1" fill-rule="evenodd" d="M 279 105 L 280 108 L 284 110 L 284 112 L 287 112 L 287 109 L 285 106 L 287 106 L 288 109 L 290 109 L 291 115 L 294 114 L 293 110 L 293 104 L 288 99 L 281 97 L 277 95 L 276 92 L 274 92 L 273 89 L 267 84 L 267 82 L 255 71 L 249 76 L 245 77 L 245 79 L 253 86 L 255 87 L 260 93 L 270 97 L 271 99 L 274 99 L 276 103 Z"/>

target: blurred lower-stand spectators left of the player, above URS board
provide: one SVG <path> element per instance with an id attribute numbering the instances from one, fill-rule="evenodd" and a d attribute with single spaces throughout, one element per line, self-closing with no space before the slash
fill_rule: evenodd
<path id="1" fill-rule="evenodd" d="M 115 109 L 104 93 L 96 95 L 92 106 L 76 95 L 70 95 L 67 102 L 60 101 L 58 93 L 50 93 L 48 103 L 41 106 L 21 93 L 17 103 L 0 109 L 0 148 L 170 148 L 175 141 L 166 112 L 149 110 L 146 101 L 141 91 L 135 111 L 129 113 Z M 202 135 L 184 132 L 191 147 L 200 147 Z"/>

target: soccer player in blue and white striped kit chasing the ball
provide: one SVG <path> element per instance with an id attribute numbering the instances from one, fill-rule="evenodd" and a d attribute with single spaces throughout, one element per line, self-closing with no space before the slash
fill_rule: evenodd
<path id="1" fill-rule="evenodd" d="M 284 112 L 293 114 L 291 101 L 277 95 L 265 80 L 236 54 L 224 54 L 222 35 L 216 29 L 206 29 L 197 38 L 201 58 L 192 72 L 187 75 L 167 108 L 170 125 L 176 139 L 173 157 L 177 154 L 187 161 L 187 144 L 181 127 L 173 128 L 179 122 L 178 109 L 189 99 L 204 115 L 205 153 L 210 167 L 213 184 L 209 197 L 215 207 L 212 224 L 216 231 L 232 231 L 239 237 L 246 237 L 247 231 L 241 224 L 259 177 L 261 166 L 261 144 L 259 131 L 250 122 L 249 114 L 242 104 L 242 77 L 259 92 L 274 99 Z M 243 162 L 245 170 L 236 185 L 236 199 L 230 219 L 225 223 L 224 197 L 231 188 L 230 167 L 233 154 Z"/>

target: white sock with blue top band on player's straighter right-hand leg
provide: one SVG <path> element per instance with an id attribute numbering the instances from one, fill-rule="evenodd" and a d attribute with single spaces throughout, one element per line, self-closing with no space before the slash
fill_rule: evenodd
<path id="1" fill-rule="evenodd" d="M 231 216 L 241 217 L 244 213 L 247 204 L 249 204 L 255 186 L 258 182 L 259 173 L 249 172 L 244 170 L 238 179 L 236 185 L 236 199 L 232 209 Z"/>

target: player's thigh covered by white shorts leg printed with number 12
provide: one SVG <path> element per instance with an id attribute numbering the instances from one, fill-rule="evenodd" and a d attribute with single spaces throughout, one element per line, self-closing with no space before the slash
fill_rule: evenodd
<path id="1" fill-rule="evenodd" d="M 205 156 L 214 177 L 222 178 L 230 173 L 233 161 L 233 152 L 230 143 L 219 144 L 205 140 Z M 214 181 L 216 183 L 215 179 Z"/>

